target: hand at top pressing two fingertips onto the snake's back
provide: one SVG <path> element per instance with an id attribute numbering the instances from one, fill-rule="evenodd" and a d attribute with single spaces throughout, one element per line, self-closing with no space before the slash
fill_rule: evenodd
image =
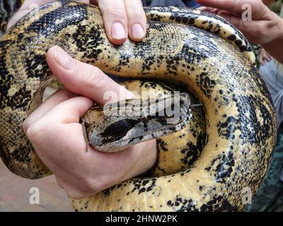
<path id="1" fill-rule="evenodd" d="M 43 5 L 54 0 L 25 0 L 21 8 L 9 21 L 7 28 L 16 23 L 35 4 Z M 103 14 L 105 32 L 113 44 L 122 44 L 129 37 L 141 41 L 146 34 L 146 16 L 141 0 L 79 0 L 84 3 L 96 4 Z"/>

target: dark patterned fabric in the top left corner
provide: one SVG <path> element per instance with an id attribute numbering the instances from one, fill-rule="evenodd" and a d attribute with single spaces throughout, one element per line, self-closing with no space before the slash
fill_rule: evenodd
<path id="1" fill-rule="evenodd" d="M 2 0 L 0 1 L 0 36 L 6 30 L 8 19 L 21 6 L 23 0 Z"/>

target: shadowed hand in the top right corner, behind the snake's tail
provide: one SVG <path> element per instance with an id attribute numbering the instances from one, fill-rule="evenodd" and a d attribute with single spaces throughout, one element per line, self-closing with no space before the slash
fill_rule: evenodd
<path id="1" fill-rule="evenodd" d="M 197 0 L 200 9 L 226 18 L 254 44 L 268 44 L 283 37 L 283 20 L 260 0 Z M 250 4 L 252 20 L 243 20 L 244 4 Z"/>

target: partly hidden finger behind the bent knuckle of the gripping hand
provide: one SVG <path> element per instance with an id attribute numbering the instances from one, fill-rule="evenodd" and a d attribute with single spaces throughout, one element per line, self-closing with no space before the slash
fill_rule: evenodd
<path id="1" fill-rule="evenodd" d="M 38 119 L 40 119 L 46 112 L 48 112 L 52 107 L 58 105 L 60 102 L 64 102 L 65 100 L 70 99 L 71 97 L 76 97 L 75 93 L 71 93 L 66 88 L 62 88 L 61 90 L 57 90 L 50 97 L 48 97 L 45 102 L 35 109 L 33 113 L 31 113 L 27 119 L 25 119 L 23 123 L 23 131 L 28 130 L 32 124 L 35 123 Z"/>

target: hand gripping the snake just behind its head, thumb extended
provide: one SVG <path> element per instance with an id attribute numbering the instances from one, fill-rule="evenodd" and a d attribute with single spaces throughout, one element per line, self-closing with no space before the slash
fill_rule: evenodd
<path id="1" fill-rule="evenodd" d="M 93 100 L 99 104 L 108 102 L 103 99 L 107 91 L 116 93 L 117 100 L 131 98 L 129 90 L 100 69 L 72 59 L 59 47 L 48 51 L 47 63 L 67 89 L 58 90 L 35 109 L 23 129 L 37 155 L 69 196 L 83 198 L 96 194 L 154 165 L 156 140 L 117 153 L 101 153 L 90 145 L 86 147 L 79 119 Z"/>

